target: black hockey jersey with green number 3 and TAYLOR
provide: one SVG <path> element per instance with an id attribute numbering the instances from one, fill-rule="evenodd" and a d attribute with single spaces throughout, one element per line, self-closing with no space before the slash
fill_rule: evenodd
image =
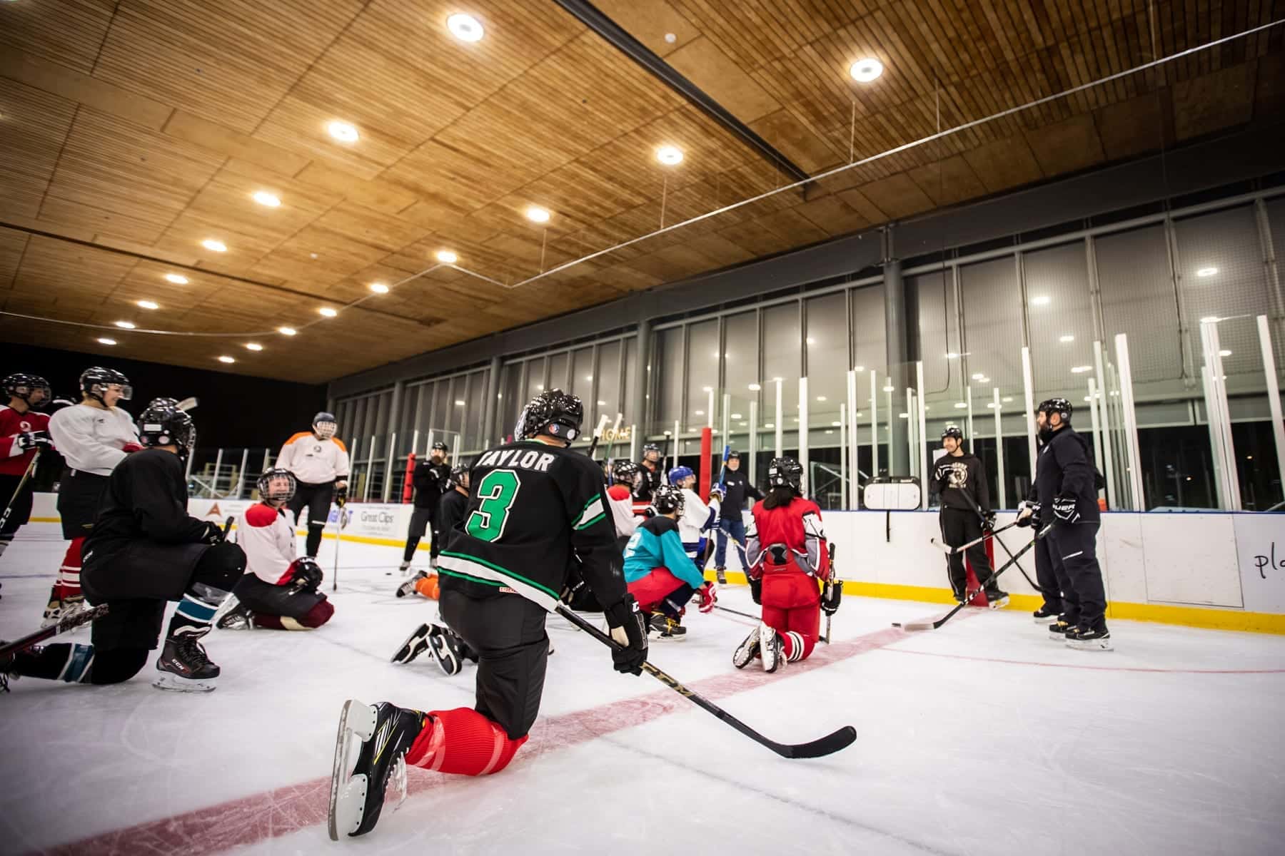
<path id="1" fill-rule="evenodd" d="M 469 479 L 468 513 L 437 560 L 443 589 L 475 598 L 520 594 L 553 611 L 574 549 L 603 607 L 625 597 L 616 527 L 594 461 L 519 440 L 484 452 Z"/>

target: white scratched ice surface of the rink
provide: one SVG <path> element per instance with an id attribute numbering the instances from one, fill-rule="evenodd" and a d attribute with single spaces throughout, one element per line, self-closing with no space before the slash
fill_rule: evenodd
<path id="1" fill-rule="evenodd" d="M 302 545 L 302 544 L 301 544 Z M 334 542 L 319 557 L 330 594 Z M 0 560 L 0 638 L 39 625 L 62 556 L 33 524 Z M 427 553 L 418 563 L 427 565 Z M 472 706 L 473 666 L 388 657 L 436 604 L 397 599 L 400 551 L 344 543 L 335 616 L 312 633 L 215 630 L 209 694 L 21 679 L 0 696 L 0 851 L 66 853 L 1281 853 L 1285 638 L 1115 621 L 1070 651 L 1029 613 L 848 597 L 834 644 L 777 675 L 736 671 L 752 624 L 689 611 L 651 660 L 776 740 L 779 758 L 550 619 L 541 717 L 508 770 L 410 770 L 410 797 L 333 843 L 325 805 L 347 698 Z M 393 570 L 393 575 L 386 575 Z M 840 567 L 842 571 L 842 567 Z M 720 603 L 752 611 L 744 586 Z M 64 637 L 67 639 L 67 637 Z M 71 640 L 87 642 L 80 630 Z"/>

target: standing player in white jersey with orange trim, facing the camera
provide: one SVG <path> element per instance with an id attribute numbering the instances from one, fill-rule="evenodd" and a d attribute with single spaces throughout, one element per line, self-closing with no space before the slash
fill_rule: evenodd
<path id="1" fill-rule="evenodd" d="M 334 413 L 312 417 L 312 430 L 299 431 L 281 447 L 276 466 L 289 470 L 297 481 L 294 497 L 287 504 L 299 522 L 299 512 L 308 509 L 306 552 L 316 558 L 321 531 L 330 516 L 330 501 L 341 506 L 348 499 L 348 447 L 334 435 Z"/>

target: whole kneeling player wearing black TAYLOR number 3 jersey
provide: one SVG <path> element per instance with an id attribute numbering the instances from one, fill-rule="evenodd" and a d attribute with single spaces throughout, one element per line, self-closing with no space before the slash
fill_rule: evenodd
<path id="1" fill-rule="evenodd" d="M 558 607 L 573 549 L 617 642 L 617 671 L 641 674 L 646 629 L 625 588 L 603 476 L 568 448 L 583 416 L 578 398 L 546 390 L 522 412 L 515 440 L 474 463 L 469 513 L 438 572 L 442 619 L 478 652 L 477 703 L 424 712 L 348 701 L 335 747 L 332 838 L 375 826 L 394 767 L 486 775 L 509 765 L 540 711 L 545 615 Z M 351 769 L 350 733 L 362 740 Z"/>

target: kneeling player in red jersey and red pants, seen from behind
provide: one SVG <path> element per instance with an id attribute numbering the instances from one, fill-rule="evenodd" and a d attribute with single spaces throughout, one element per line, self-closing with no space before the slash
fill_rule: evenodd
<path id="1" fill-rule="evenodd" d="M 822 604 L 820 583 L 830 578 L 830 553 L 821 509 L 803 497 L 803 467 L 794 458 L 774 458 L 767 481 L 771 489 L 754 504 L 745 548 L 750 593 L 763 607 L 763 621 L 731 661 L 744 669 L 758 657 L 765 671 L 776 671 L 812 653 L 821 610 L 833 615 L 843 589 L 830 586 Z"/>

